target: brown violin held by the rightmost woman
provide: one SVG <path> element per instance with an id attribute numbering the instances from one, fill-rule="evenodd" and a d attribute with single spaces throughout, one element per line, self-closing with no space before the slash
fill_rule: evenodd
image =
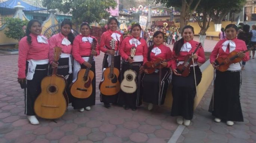
<path id="1" fill-rule="evenodd" d="M 252 49 L 253 49 L 253 47 L 243 51 L 243 53 L 246 53 L 246 52 L 248 52 L 248 51 L 250 51 Z M 229 53 L 229 55 L 226 58 L 220 58 L 220 57 L 216 58 L 215 66 L 219 65 L 219 69 L 218 70 L 221 71 L 221 72 L 226 71 L 229 68 L 230 64 L 235 64 L 237 62 L 242 61 L 243 58 L 240 58 L 237 55 L 237 53 L 238 53 L 237 51 L 232 51 L 231 53 Z"/>

